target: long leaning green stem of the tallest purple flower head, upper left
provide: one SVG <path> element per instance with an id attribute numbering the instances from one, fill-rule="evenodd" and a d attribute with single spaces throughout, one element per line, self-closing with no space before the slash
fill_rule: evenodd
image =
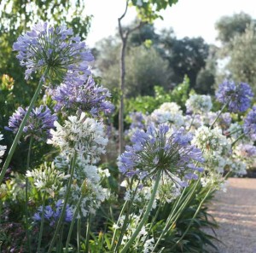
<path id="1" fill-rule="evenodd" d="M 49 72 L 49 69 L 47 68 L 45 70 L 44 74 L 43 74 L 43 77 L 46 77 L 48 72 Z M 30 113 L 32 112 L 32 108 L 33 108 L 35 102 L 38 99 L 38 95 L 40 94 L 40 91 L 42 89 L 43 84 L 44 84 L 44 78 L 41 78 L 40 82 L 38 83 L 38 88 L 36 89 L 35 94 L 32 97 L 32 101 L 30 102 L 30 105 L 27 108 L 27 112 L 26 112 L 26 114 L 25 114 L 25 116 L 24 116 L 24 118 L 23 118 L 23 120 L 22 120 L 22 122 L 20 124 L 20 128 L 19 128 L 17 134 L 15 135 L 15 141 L 13 142 L 12 146 L 10 147 L 8 156 L 7 156 L 7 158 L 6 158 L 6 160 L 5 160 L 4 164 L 3 164 L 3 169 L 1 170 L 1 173 L 0 173 L 0 184 L 3 181 L 3 177 L 4 177 L 5 173 L 6 173 L 6 170 L 9 167 L 9 163 L 11 161 L 11 158 L 13 157 L 15 149 L 17 147 L 17 144 L 20 141 L 20 136 L 21 136 L 22 131 L 23 131 L 25 125 L 26 125 L 26 121 L 29 118 Z"/>

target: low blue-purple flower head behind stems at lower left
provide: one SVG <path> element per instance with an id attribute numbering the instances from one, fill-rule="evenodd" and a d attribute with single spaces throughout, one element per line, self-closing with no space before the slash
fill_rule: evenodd
<path id="1" fill-rule="evenodd" d="M 55 223 L 59 220 L 61 216 L 61 210 L 63 208 L 63 201 L 59 199 L 54 205 L 46 205 L 44 208 L 44 222 L 48 223 L 50 227 L 55 227 Z M 43 215 L 43 206 L 38 208 L 38 212 L 34 214 L 32 219 L 34 221 L 40 222 Z M 71 222 L 73 219 L 72 207 L 67 204 L 66 212 L 64 216 L 65 222 Z"/>

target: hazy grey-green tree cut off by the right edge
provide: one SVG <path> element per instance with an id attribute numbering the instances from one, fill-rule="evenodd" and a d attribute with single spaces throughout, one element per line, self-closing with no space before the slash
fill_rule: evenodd
<path id="1" fill-rule="evenodd" d="M 219 59 L 224 66 L 216 75 L 216 85 L 224 78 L 247 82 L 256 91 L 256 20 L 248 14 L 224 16 L 216 24 L 223 43 Z"/>

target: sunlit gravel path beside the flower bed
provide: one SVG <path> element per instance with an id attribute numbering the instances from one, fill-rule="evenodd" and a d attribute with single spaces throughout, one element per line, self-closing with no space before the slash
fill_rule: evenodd
<path id="1" fill-rule="evenodd" d="M 256 179 L 230 178 L 227 193 L 216 194 L 210 213 L 224 243 L 212 253 L 256 253 Z"/>

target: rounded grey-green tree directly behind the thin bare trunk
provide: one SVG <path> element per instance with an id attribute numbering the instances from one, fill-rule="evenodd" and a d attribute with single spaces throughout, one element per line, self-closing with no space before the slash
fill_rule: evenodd
<path id="1" fill-rule="evenodd" d="M 99 75 L 102 83 L 110 90 L 114 90 L 119 84 L 119 62 L 116 59 L 116 43 L 111 43 L 111 38 L 102 41 L 96 67 L 100 69 Z M 106 52 L 108 49 L 108 52 Z M 106 52 L 101 54 L 101 52 Z M 137 95 L 154 95 L 154 86 L 159 85 L 164 89 L 170 88 L 170 69 L 168 61 L 164 60 L 153 47 L 146 48 L 141 45 L 129 49 L 125 57 L 125 97 Z"/>

